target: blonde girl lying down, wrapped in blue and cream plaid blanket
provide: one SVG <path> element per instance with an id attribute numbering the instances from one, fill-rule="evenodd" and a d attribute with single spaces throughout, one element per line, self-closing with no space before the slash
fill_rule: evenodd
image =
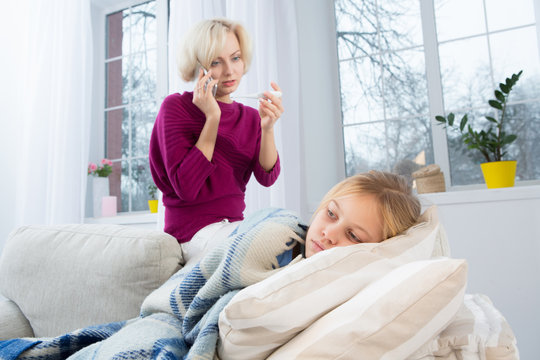
<path id="1" fill-rule="evenodd" d="M 352 176 L 326 194 L 309 228 L 283 209 L 246 217 L 197 264 L 179 270 L 151 293 L 139 317 L 56 338 L 2 341 L 0 359 L 212 359 L 219 314 L 241 289 L 323 250 L 395 236 L 417 222 L 420 209 L 398 175 L 370 171 Z"/>

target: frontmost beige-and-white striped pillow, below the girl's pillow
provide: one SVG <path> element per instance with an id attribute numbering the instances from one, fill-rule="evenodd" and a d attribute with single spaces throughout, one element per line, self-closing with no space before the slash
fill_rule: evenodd
<path id="1" fill-rule="evenodd" d="M 463 303 L 465 260 L 399 266 L 332 310 L 268 359 L 405 359 Z"/>

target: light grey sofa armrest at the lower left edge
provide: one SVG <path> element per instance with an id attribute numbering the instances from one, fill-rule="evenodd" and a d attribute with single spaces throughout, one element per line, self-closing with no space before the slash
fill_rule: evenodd
<path id="1" fill-rule="evenodd" d="M 0 341 L 33 336 L 34 331 L 17 304 L 0 296 Z"/>

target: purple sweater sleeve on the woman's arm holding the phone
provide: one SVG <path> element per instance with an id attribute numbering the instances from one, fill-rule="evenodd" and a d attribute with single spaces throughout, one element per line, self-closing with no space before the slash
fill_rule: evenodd
<path id="1" fill-rule="evenodd" d="M 184 201 L 197 198 L 215 168 L 195 146 L 202 128 L 200 122 L 201 119 L 190 114 L 182 101 L 169 97 L 163 101 L 156 120 L 168 180 L 176 195 Z"/>

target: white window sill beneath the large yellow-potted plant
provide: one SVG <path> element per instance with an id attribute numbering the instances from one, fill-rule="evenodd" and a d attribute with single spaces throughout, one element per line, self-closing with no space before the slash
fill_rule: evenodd
<path id="1" fill-rule="evenodd" d="M 456 190 L 441 193 L 419 194 L 424 204 L 452 205 L 540 199 L 540 185 L 514 186 L 500 189 Z"/>

